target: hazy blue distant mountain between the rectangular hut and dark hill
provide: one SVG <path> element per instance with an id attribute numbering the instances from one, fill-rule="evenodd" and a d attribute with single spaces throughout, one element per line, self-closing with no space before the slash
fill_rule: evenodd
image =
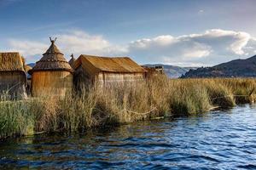
<path id="1" fill-rule="evenodd" d="M 155 65 L 144 65 L 148 67 L 154 67 L 161 65 L 164 67 L 164 70 L 166 72 L 166 75 L 170 78 L 177 78 L 181 77 L 183 74 L 185 74 L 190 69 L 195 70 L 197 67 L 180 67 L 176 65 L 162 65 L 162 64 L 155 64 Z"/>

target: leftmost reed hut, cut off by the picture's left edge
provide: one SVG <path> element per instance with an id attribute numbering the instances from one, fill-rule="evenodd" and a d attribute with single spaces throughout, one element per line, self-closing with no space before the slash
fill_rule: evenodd
<path id="1" fill-rule="evenodd" d="M 0 94 L 26 97 L 26 71 L 19 53 L 0 53 Z"/>

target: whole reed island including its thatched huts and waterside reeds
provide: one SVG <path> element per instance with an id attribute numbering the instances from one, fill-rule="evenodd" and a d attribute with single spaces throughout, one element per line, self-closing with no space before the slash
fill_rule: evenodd
<path id="1" fill-rule="evenodd" d="M 67 62 L 53 40 L 28 71 L 31 84 L 20 54 L 0 54 L 0 59 L 0 139 L 189 116 L 255 100 L 251 78 L 169 79 L 162 68 L 127 57 L 82 54 Z M 28 97 L 20 95 L 25 93 Z"/>

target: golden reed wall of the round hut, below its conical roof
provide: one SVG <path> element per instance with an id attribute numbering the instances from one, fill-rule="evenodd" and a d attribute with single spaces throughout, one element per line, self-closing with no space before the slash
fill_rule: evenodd
<path id="1" fill-rule="evenodd" d="M 32 74 L 32 95 L 65 96 L 73 88 L 73 75 L 69 71 L 36 71 Z"/>

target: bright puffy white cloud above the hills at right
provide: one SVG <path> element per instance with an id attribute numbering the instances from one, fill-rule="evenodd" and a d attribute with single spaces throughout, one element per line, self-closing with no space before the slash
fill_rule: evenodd
<path id="1" fill-rule="evenodd" d="M 252 42 L 252 37 L 246 32 L 212 29 L 201 34 L 137 40 L 130 43 L 129 53 L 141 62 L 212 65 L 253 54 L 252 49 L 250 53 L 247 50 L 249 41 Z M 256 44 L 252 46 L 256 49 Z"/>

